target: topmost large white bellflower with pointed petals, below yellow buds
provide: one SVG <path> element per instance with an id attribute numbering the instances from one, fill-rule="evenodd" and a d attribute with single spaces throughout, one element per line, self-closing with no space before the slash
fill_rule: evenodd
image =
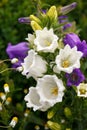
<path id="1" fill-rule="evenodd" d="M 37 51 L 54 52 L 58 48 L 58 37 L 54 34 L 53 29 L 36 30 L 36 38 L 34 44 Z"/>

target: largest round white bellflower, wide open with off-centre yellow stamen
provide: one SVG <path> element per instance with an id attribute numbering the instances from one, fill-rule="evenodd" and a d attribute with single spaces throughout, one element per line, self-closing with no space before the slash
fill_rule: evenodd
<path id="1" fill-rule="evenodd" d="M 50 106 L 62 102 L 65 87 L 56 75 L 45 75 L 39 78 L 36 88 L 40 95 L 40 102 L 47 102 Z"/>

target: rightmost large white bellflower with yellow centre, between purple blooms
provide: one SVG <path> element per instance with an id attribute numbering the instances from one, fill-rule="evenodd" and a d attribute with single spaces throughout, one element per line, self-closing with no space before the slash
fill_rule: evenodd
<path id="1" fill-rule="evenodd" d="M 82 53 L 77 51 L 77 47 L 70 48 L 69 45 L 66 45 L 64 49 L 60 49 L 59 55 L 56 56 L 54 71 L 72 73 L 75 68 L 80 68 L 81 57 Z"/>

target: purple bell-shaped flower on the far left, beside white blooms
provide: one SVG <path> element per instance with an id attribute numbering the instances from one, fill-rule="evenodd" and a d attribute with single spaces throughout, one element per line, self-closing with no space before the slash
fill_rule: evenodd
<path id="1" fill-rule="evenodd" d="M 24 61 L 24 58 L 27 56 L 27 52 L 29 50 L 27 42 L 21 42 L 17 45 L 8 44 L 6 48 L 6 53 L 8 54 L 10 59 L 17 58 L 18 62 L 13 64 L 13 68 L 17 68 Z"/>

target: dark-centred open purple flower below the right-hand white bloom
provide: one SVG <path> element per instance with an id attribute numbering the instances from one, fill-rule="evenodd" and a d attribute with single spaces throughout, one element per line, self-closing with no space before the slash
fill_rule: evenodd
<path id="1" fill-rule="evenodd" d="M 84 75 L 80 69 L 74 69 L 71 74 L 66 73 L 67 86 L 78 86 L 82 81 L 85 80 Z"/>

